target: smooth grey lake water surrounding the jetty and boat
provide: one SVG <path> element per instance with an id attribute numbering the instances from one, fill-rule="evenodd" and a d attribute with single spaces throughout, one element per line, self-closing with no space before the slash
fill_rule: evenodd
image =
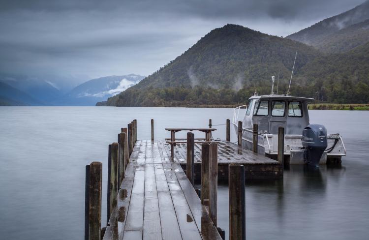
<path id="1" fill-rule="evenodd" d="M 214 108 L 0 107 L 0 239 L 82 240 L 85 165 L 92 161 L 103 163 L 106 219 L 108 145 L 132 119 L 137 119 L 138 139 L 150 139 L 153 118 L 155 139 L 162 140 L 169 137 L 164 127 L 206 127 L 209 118 L 222 124 L 232 113 Z M 309 113 L 310 122 L 341 133 L 347 156 L 340 168 L 307 172 L 291 166 L 283 180 L 247 183 L 247 239 L 369 238 L 369 111 Z M 213 137 L 224 139 L 225 126 L 216 128 Z M 231 134 L 235 139 L 233 129 Z M 224 184 L 218 189 L 218 226 L 228 233 Z"/>

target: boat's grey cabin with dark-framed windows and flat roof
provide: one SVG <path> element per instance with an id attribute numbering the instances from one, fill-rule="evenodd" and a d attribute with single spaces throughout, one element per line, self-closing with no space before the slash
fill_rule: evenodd
<path id="1" fill-rule="evenodd" d="M 258 124 L 259 132 L 278 134 L 284 127 L 285 134 L 301 135 L 309 124 L 307 104 L 313 98 L 286 95 L 262 95 L 249 98 L 244 118 L 244 128 Z"/>

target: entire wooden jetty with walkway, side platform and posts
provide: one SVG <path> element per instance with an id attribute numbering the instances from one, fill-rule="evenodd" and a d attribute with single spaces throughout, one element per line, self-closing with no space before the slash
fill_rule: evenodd
<path id="1" fill-rule="evenodd" d="M 229 184 L 229 239 L 246 239 L 245 179 L 281 177 L 282 163 L 229 141 L 212 141 L 211 120 L 209 129 L 201 130 L 203 142 L 195 142 L 192 132 L 185 143 L 176 142 L 174 134 L 170 144 L 155 141 L 154 120 L 151 126 L 151 140 L 138 141 L 133 120 L 121 129 L 118 143 L 109 145 L 102 229 L 102 164 L 86 166 L 85 240 L 224 240 L 217 226 L 220 179 Z M 196 179 L 201 190 L 193 187 Z"/>

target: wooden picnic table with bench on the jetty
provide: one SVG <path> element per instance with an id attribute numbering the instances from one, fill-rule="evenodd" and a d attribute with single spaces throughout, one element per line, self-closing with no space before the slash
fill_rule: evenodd
<path id="1" fill-rule="evenodd" d="M 212 139 L 212 131 L 215 131 L 216 128 L 202 128 L 202 127 L 196 127 L 196 128 L 190 128 L 190 127 L 166 127 L 165 130 L 170 131 L 170 139 L 166 138 L 166 142 L 170 144 L 170 156 L 172 160 L 174 159 L 174 146 L 176 146 L 176 143 L 187 143 L 186 141 L 176 141 L 176 132 L 180 131 L 200 131 L 205 132 L 205 138 L 195 138 L 195 140 L 203 140 L 198 141 L 195 143 L 205 143 L 210 142 Z M 177 140 L 185 140 L 185 138 L 178 138 Z"/>

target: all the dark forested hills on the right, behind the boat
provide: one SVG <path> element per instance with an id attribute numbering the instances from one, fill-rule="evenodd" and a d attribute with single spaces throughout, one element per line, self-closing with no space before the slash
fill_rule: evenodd
<path id="1" fill-rule="evenodd" d="M 285 38 L 238 25 L 212 30 L 139 84 L 98 105 L 245 104 L 271 76 L 285 93 L 332 103 L 369 102 L 369 1 Z"/>

